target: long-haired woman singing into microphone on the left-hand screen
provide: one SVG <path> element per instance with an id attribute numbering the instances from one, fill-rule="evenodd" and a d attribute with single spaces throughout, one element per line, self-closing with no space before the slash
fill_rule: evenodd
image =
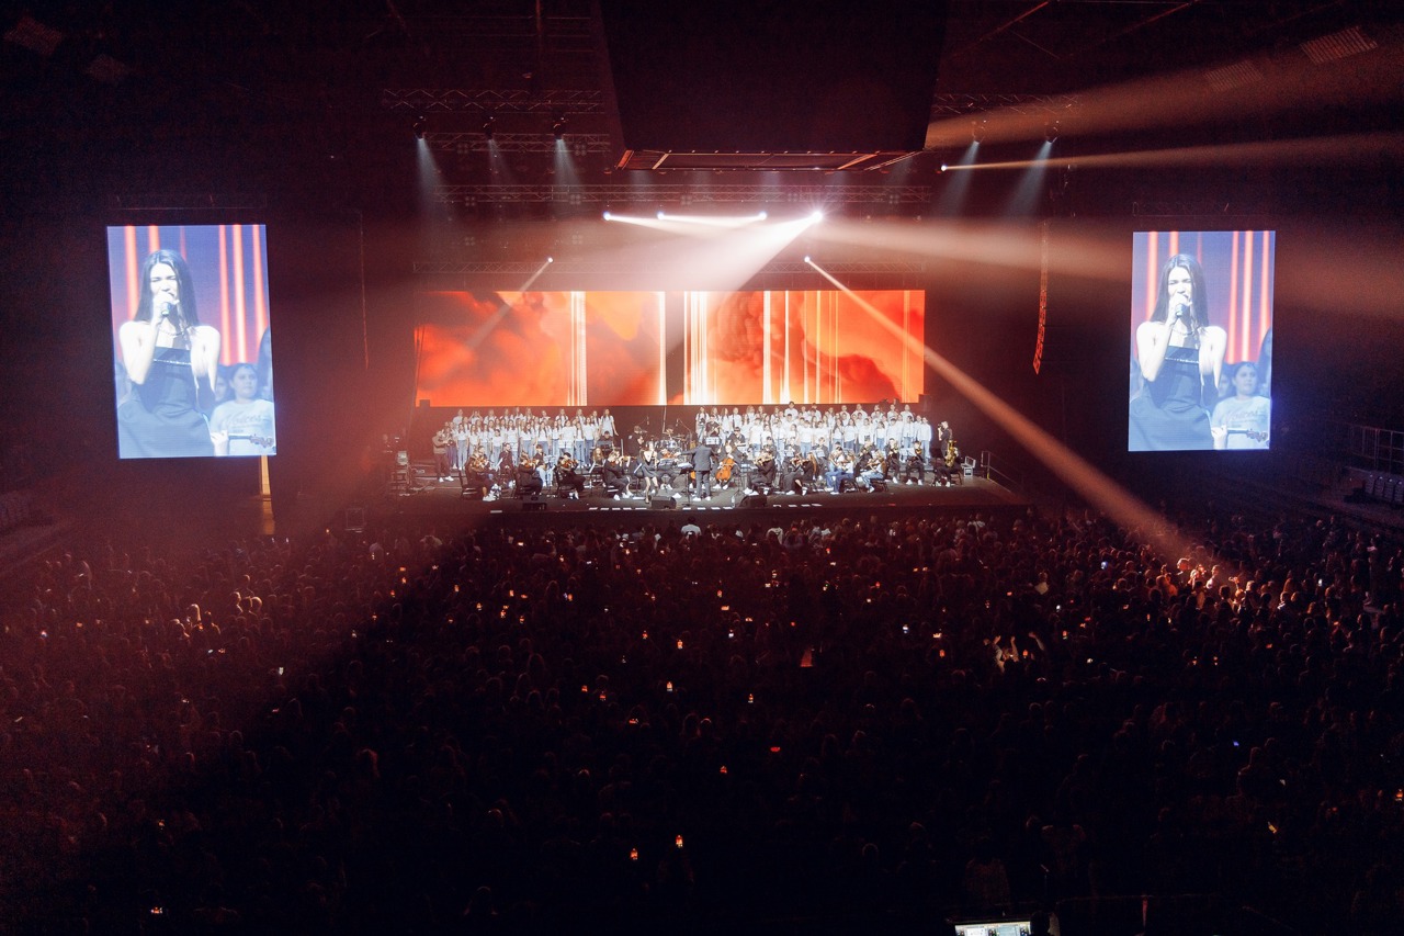
<path id="1" fill-rule="evenodd" d="M 140 301 L 117 333 L 132 384 L 118 403 L 122 458 L 213 455 L 215 443 L 199 409 L 199 388 L 213 392 L 219 330 L 199 323 L 190 266 L 174 250 L 142 263 Z"/>

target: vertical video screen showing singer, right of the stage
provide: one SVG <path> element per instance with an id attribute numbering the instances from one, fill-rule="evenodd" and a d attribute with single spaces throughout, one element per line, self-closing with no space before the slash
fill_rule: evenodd
<path id="1" fill-rule="evenodd" d="M 1130 451 L 1272 444 L 1272 230 L 1133 239 Z"/>

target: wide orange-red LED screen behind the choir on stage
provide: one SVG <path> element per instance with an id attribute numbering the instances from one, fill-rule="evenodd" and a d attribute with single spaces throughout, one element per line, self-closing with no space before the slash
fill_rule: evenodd
<path id="1" fill-rule="evenodd" d="M 921 396 L 925 295 L 423 292 L 432 406 L 856 403 Z"/>

